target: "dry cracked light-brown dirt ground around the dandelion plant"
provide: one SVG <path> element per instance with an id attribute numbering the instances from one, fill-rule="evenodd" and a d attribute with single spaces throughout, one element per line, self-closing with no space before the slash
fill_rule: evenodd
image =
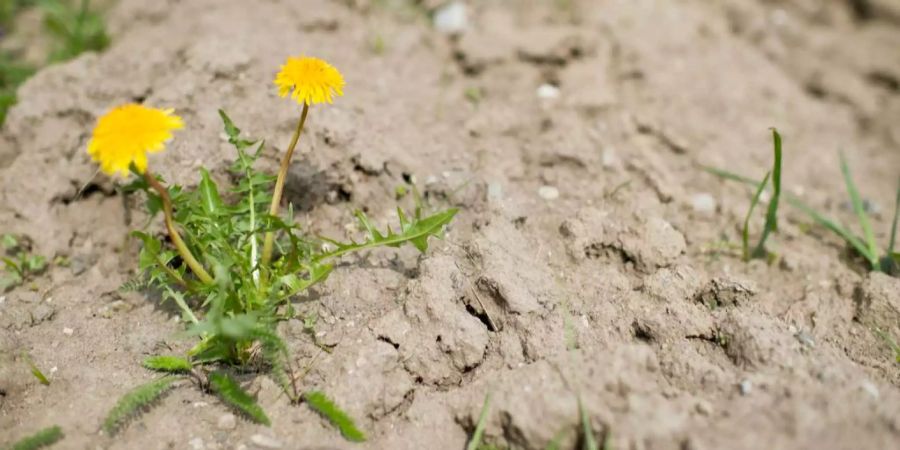
<path id="1" fill-rule="evenodd" d="M 514 449 L 575 448 L 579 398 L 617 449 L 900 442 L 900 366 L 871 331 L 900 337 L 900 280 L 789 207 L 773 264 L 717 251 L 751 192 L 701 170 L 761 178 L 777 127 L 785 189 L 851 222 L 843 149 L 887 242 L 897 1 L 466 1 L 453 35 L 428 15 L 438 3 L 123 0 L 108 51 L 22 87 L 0 131 L 0 231 L 70 264 L 0 294 L 0 443 L 58 424 L 64 449 L 462 449 L 488 392 L 486 440 Z M 346 236 L 356 207 L 395 221 L 411 175 L 462 209 L 427 255 L 348 258 L 297 299 L 332 353 L 284 324 L 297 364 L 314 360 L 306 386 L 370 440 L 347 443 L 266 377 L 247 381 L 271 428 L 177 389 L 110 438 L 107 411 L 153 377 L 141 359 L 190 342 L 169 305 L 118 292 L 142 221 L 90 181 L 90 131 L 118 103 L 175 108 L 186 129 L 152 164 L 224 184 L 222 107 L 274 167 L 298 111 L 272 78 L 294 54 L 347 80 L 311 112 L 288 182 L 311 232 Z"/>

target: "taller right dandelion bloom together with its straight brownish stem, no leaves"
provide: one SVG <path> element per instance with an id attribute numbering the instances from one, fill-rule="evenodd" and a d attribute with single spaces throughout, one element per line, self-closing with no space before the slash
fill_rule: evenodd
<path id="1" fill-rule="evenodd" d="M 303 132 L 309 107 L 315 104 L 331 103 L 334 96 L 344 95 L 344 77 L 334 66 L 319 58 L 291 56 L 281 66 L 281 71 L 275 75 L 275 85 L 278 86 L 278 95 L 287 97 L 290 94 L 291 98 L 303 105 L 303 112 L 300 114 L 297 129 L 294 130 L 294 136 L 291 137 L 291 143 L 281 160 L 281 168 L 275 178 L 275 189 L 272 191 L 272 204 L 269 208 L 271 216 L 278 214 L 288 166 L 294 156 L 294 148 L 297 147 L 300 133 Z M 267 232 L 263 242 L 261 259 L 263 266 L 268 264 L 272 258 L 274 240 L 274 234 L 271 231 Z"/>

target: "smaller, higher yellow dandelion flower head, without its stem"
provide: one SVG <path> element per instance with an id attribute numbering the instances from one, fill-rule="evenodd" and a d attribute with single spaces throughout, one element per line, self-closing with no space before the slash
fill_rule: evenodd
<path id="1" fill-rule="evenodd" d="M 344 95 L 344 77 L 331 64 L 307 56 L 289 57 L 275 76 L 278 95 L 299 104 L 331 103 L 333 95 Z"/>

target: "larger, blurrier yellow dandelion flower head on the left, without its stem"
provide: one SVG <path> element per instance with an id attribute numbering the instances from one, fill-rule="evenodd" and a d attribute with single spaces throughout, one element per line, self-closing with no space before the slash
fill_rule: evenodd
<path id="1" fill-rule="evenodd" d="M 88 154 L 107 175 L 119 173 L 127 177 L 132 163 L 144 173 L 147 153 L 162 151 L 166 141 L 172 139 L 172 130 L 184 126 L 181 118 L 172 113 L 171 109 L 134 103 L 113 108 L 97 121 L 88 142 Z"/>

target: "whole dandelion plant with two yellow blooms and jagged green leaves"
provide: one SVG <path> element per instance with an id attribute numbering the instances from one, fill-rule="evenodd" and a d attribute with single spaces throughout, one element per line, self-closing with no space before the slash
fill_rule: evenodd
<path id="1" fill-rule="evenodd" d="M 386 231 L 356 211 L 359 228 L 365 232 L 359 241 L 304 233 L 293 222 L 291 207 L 287 214 L 279 213 L 287 170 L 310 105 L 330 103 L 333 96 L 341 95 L 344 82 L 337 69 L 304 57 L 288 58 L 275 83 L 281 96 L 291 95 L 302 106 L 278 174 L 256 169 L 265 143 L 242 137 L 228 115 L 219 111 L 237 153 L 229 171 L 238 181 L 224 192 L 205 168 L 199 170 L 196 189 L 166 186 L 148 167 L 146 153 L 131 151 L 161 150 L 172 132 L 183 126 L 173 111 L 124 105 L 97 124 L 88 153 L 107 174 L 138 175 L 124 191 L 146 195 L 149 215 L 162 213 L 171 242 L 135 231 L 133 235 L 143 244 L 138 258 L 141 275 L 124 287 L 156 290 L 164 301 L 173 301 L 188 324 L 188 334 L 198 339 L 184 357 L 155 356 L 144 361 L 146 368 L 168 375 L 126 395 L 110 413 L 105 425 L 108 430 L 124 425 L 177 380 L 189 380 L 249 419 L 269 425 L 256 400 L 223 371 L 237 367 L 244 372 L 263 369 L 292 403 L 306 403 L 348 440 L 365 439 L 353 420 L 324 393 L 304 392 L 299 386 L 303 375 L 296 373 L 277 326 L 297 318 L 292 299 L 324 281 L 343 255 L 404 244 L 424 253 L 428 239 L 440 237 L 457 210 L 425 216 L 421 207 L 412 214 L 398 208 L 399 226 Z M 314 326 L 315 316 L 301 319 L 305 327 Z"/>

